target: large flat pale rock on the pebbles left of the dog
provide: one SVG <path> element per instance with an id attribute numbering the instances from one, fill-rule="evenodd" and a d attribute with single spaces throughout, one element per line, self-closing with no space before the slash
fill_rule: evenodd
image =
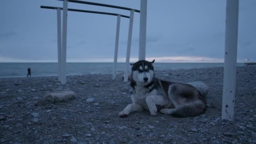
<path id="1" fill-rule="evenodd" d="M 51 102 L 66 102 L 75 99 L 75 93 L 73 91 L 57 91 L 45 94 L 43 98 Z"/>

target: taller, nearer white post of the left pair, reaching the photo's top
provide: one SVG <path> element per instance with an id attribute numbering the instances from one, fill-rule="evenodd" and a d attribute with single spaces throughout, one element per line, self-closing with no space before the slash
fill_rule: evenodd
<path id="1" fill-rule="evenodd" d="M 62 50 L 61 50 L 61 84 L 66 84 L 67 62 L 67 0 L 63 1 Z"/>

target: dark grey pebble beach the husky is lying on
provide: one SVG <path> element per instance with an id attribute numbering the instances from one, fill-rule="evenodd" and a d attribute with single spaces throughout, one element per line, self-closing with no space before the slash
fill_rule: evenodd
<path id="1" fill-rule="evenodd" d="M 155 72 L 163 80 L 206 83 L 205 114 L 153 117 L 144 111 L 120 118 L 118 112 L 131 103 L 121 75 L 72 75 L 67 85 L 57 77 L 0 78 L 0 144 L 256 143 L 255 66 L 237 67 L 233 122 L 221 120 L 223 67 Z M 56 91 L 72 91 L 75 98 L 45 99 Z"/>

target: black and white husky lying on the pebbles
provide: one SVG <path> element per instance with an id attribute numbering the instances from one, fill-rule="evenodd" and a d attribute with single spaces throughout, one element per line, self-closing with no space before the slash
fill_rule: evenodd
<path id="1" fill-rule="evenodd" d="M 208 91 L 202 95 L 190 84 L 157 79 L 154 62 L 155 60 L 152 62 L 142 60 L 131 64 L 132 103 L 119 113 L 119 117 L 127 117 L 132 112 L 142 110 L 149 111 L 153 116 L 157 115 L 157 110 L 175 117 L 203 114 L 206 110 L 205 96 Z"/>

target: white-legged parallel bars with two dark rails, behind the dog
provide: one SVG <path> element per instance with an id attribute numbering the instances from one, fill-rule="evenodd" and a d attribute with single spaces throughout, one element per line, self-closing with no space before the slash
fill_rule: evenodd
<path id="1" fill-rule="evenodd" d="M 128 66 L 129 66 L 129 60 L 130 60 L 130 51 L 131 51 L 131 34 L 132 34 L 132 25 L 133 25 L 133 13 L 134 11 L 140 12 L 139 10 L 132 9 L 132 8 L 125 8 L 125 7 L 120 7 L 120 6 L 115 6 L 115 5 L 106 5 L 106 4 L 101 4 L 101 3 L 92 3 L 92 2 L 85 2 L 85 1 L 80 1 L 80 0 L 61 0 L 63 1 L 63 8 L 59 7 L 51 7 L 51 6 L 43 6 L 41 5 L 40 8 L 47 8 L 47 9 L 56 9 L 57 10 L 57 37 L 58 37 L 58 79 L 61 81 L 61 84 L 66 84 L 66 57 L 67 57 L 67 12 L 65 12 L 65 9 L 67 7 L 67 2 L 73 2 L 73 3 L 83 3 L 83 4 L 89 4 L 89 5 L 99 5 L 99 6 L 105 6 L 105 7 L 111 7 L 111 8 L 119 8 L 119 9 L 124 9 L 124 10 L 130 10 L 132 18 L 130 16 L 125 16 L 117 13 L 107 13 L 107 12 L 99 12 L 99 11 L 87 11 L 87 10 L 78 10 L 78 9 L 72 9 L 72 8 L 67 8 L 67 11 L 77 11 L 77 12 L 85 12 L 85 13 L 97 13 L 97 14 L 107 14 L 107 15 L 112 15 L 112 16 L 117 16 L 117 31 L 116 31 L 116 38 L 115 38 L 115 55 L 114 55 L 114 67 L 113 67 L 113 74 L 112 74 L 112 79 L 114 80 L 116 78 L 116 71 L 117 71 L 117 53 L 118 53 L 118 43 L 119 43 L 119 31 L 120 31 L 120 17 L 125 17 L 125 18 L 130 18 L 130 23 L 129 23 L 129 35 L 128 35 L 128 47 L 126 55 L 129 55 L 127 57 L 127 72 L 126 72 L 126 81 L 128 81 Z M 62 29 L 62 41 L 60 38 L 61 31 L 61 24 L 60 24 L 60 13 L 58 11 L 63 10 L 63 29 Z M 60 19 L 60 20 L 59 20 Z M 62 42 L 62 44 L 61 44 Z M 125 67 L 126 69 L 126 67 Z"/>

